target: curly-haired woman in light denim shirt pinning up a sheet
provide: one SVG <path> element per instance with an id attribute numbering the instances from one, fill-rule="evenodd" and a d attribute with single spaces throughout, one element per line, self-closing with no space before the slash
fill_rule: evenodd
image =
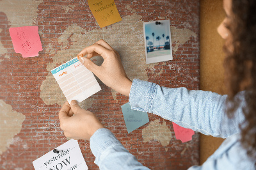
<path id="1" fill-rule="evenodd" d="M 224 0 L 227 17 L 218 27 L 225 39 L 229 95 L 186 88 L 163 88 L 151 82 L 130 81 L 118 53 L 100 40 L 83 49 L 79 61 L 110 88 L 129 97 L 133 109 L 152 112 L 203 134 L 227 139 L 202 166 L 189 169 L 255 169 L 256 160 L 256 1 Z M 90 61 L 102 56 L 97 66 Z M 72 116 L 75 114 L 76 116 Z M 125 150 L 115 136 L 76 101 L 60 111 L 67 137 L 90 140 L 100 169 L 148 169 Z M 72 116 L 72 117 L 70 117 Z"/>

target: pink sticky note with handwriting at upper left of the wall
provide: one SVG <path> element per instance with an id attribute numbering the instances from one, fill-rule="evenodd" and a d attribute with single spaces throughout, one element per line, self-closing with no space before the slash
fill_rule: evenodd
<path id="1" fill-rule="evenodd" d="M 37 26 L 10 27 L 9 32 L 15 52 L 22 54 L 23 58 L 38 56 L 43 50 Z"/>

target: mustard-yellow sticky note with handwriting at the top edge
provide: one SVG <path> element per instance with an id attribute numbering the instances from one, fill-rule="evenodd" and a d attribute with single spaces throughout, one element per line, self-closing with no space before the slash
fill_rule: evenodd
<path id="1" fill-rule="evenodd" d="M 88 0 L 88 4 L 100 27 L 122 20 L 114 0 Z"/>

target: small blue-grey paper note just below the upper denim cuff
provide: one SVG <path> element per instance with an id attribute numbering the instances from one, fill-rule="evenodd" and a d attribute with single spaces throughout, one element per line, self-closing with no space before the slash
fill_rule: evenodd
<path id="1" fill-rule="evenodd" d="M 131 105 L 128 103 L 121 107 L 128 133 L 148 123 L 149 119 L 147 112 L 132 110 Z"/>

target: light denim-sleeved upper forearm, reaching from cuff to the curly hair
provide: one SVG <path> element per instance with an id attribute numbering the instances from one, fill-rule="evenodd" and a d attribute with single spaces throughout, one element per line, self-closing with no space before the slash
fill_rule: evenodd
<path id="1" fill-rule="evenodd" d="M 239 127 L 237 122 L 228 122 L 232 130 L 227 132 L 222 125 L 223 121 L 230 121 L 225 115 L 226 98 L 227 95 L 210 91 L 164 88 L 151 82 L 134 80 L 129 104 L 132 109 L 157 114 L 181 127 L 206 135 L 227 137 L 239 132 Z"/>

